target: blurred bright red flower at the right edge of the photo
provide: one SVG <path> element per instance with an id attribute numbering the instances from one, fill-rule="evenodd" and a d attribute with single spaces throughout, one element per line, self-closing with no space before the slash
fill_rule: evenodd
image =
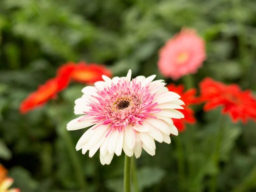
<path id="1" fill-rule="evenodd" d="M 242 91 L 237 84 L 225 85 L 207 77 L 200 83 L 200 100 L 206 102 L 204 110 L 223 106 L 222 113 L 228 113 L 233 122 L 241 119 L 256 121 L 256 99 L 250 90 Z"/>

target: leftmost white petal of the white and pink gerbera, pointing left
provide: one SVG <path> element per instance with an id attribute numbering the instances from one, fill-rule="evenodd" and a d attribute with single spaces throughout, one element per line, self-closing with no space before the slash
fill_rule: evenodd
<path id="1" fill-rule="evenodd" d="M 93 119 L 83 119 L 85 116 L 80 116 L 76 119 L 71 120 L 68 124 L 67 124 L 67 130 L 77 130 L 77 129 L 83 129 L 89 126 L 94 125 L 95 123 L 92 123 L 92 121 L 94 121 Z M 81 121 L 79 121 L 81 120 Z"/>

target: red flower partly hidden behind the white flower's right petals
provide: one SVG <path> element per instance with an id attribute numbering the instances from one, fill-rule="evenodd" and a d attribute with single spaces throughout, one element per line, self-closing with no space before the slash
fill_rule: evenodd
<path id="1" fill-rule="evenodd" d="M 173 119 L 174 125 L 179 131 L 184 131 L 186 129 L 186 123 L 194 124 L 196 123 L 196 118 L 194 117 L 194 111 L 189 107 L 191 104 L 195 104 L 197 99 L 195 97 L 196 89 L 191 88 L 187 91 L 184 91 L 184 85 L 175 86 L 175 84 L 167 85 L 169 91 L 173 91 L 181 96 L 181 100 L 184 101 L 184 109 L 177 109 L 183 113 L 183 119 Z"/>

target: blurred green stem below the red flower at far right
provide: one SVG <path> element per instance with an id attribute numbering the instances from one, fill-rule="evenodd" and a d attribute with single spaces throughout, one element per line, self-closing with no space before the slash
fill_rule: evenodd
<path id="1" fill-rule="evenodd" d="M 213 151 L 213 157 L 212 157 L 213 164 L 217 168 L 217 171 L 216 171 L 216 174 L 214 174 L 211 177 L 210 192 L 215 192 L 217 190 L 217 177 L 218 177 L 218 172 L 219 172 L 219 166 L 218 166 L 219 156 L 220 156 L 221 141 L 222 141 L 222 138 L 223 138 L 226 119 L 227 119 L 227 115 L 222 115 L 221 114 L 221 116 L 220 116 L 220 125 L 219 125 L 218 130 L 217 130 L 217 141 L 216 141 L 216 144 L 215 144 L 215 148 L 214 148 L 214 151 Z"/>

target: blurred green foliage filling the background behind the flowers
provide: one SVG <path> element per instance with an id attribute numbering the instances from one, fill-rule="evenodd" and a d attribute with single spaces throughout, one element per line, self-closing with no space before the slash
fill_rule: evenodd
<path id="1" fill-rule="evenodd" d="M 256 91 L 256 3 L 254 0 L 1 0 L 0 161 L 23 192 L 80 191 L 61 129 L 74 118 L 74 100 L 84 85 L 72 84 L 46 106 L 20 115 L 20 102 L 67 61 L 104 63 L 114 75 L 157 74 L 158 51 L 182 27 L 206 40 L 207 61 L 193 75 L 197 87 L 210 76 Z M 166 79 L 169 83 L 170 79 Z M 182 83 L 182 80 L 176 82 Z M 218 138 L 220 111 L 195 108 L 198 123 L 156 155 L 137 160 L 141 191 L 256 190 L 255 123 L 227 120 Z M 57 128 L 58 127 L 58 128 Z M 84 130 L 69 132 L 75 142 Z M 220 162 L 214 160 L 216 142 Z M 87 191 L 121 191 L 124 156 L 102 166 L 76 152 Z M 184 177 L 178 174 L 184 160 Z"/>

